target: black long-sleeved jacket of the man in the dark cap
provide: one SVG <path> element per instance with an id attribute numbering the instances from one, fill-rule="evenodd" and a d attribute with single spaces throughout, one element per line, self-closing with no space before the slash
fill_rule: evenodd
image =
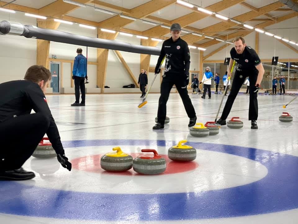
<path id="1" fill-rule="evenodd" d="M 162 59 L 165 58 L 164 73 L 188 74 L 190 65 L 190 54 L 188 44 L 180 37 L 175 42 L 172 37 L 165 40 L 160 50 L 156 68 L 159 68 Z"/>

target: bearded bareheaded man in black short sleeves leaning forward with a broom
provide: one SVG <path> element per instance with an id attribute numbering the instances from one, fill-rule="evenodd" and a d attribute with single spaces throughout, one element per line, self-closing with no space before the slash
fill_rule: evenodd
<path id="1" fill-rule="evenodd" d="M 234 48 L 230 51 L 231 60 L 228 70 L 228 77 L 231 77 L 231 69 L 234 60 L 237 62 L 237 68 L 233 79 L 230 94 L 224 106 L 220 119 L 216 122 L 220 125 L 226 124 L 226 119 L 231 111 L 234 100 L 243 85 L 246 77 L 249 77 L 251 85 L 249 86 L 249 112 L 248 119 L 251 120 L 251 128 L 257 129 L 258 119 L 258 100 L 257 92 L 264 76 L 264 68 L 258 54 L 249 46 L 246 46 L 243 37 L 237 37 L 234 40 Z"/>

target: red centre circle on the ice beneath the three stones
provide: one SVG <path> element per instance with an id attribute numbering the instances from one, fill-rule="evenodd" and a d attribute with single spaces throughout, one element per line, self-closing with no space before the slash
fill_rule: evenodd
<path id="1" fill-rule="evenodd" d="M 130 153 L 130 155 L 135 158 L 140 155 L 144 155 L 143 153 Z M 166 174 L 175 174 L 175 173 L 183 173 L 187 171 L 191 171 L 196 169 L 199 165 L 195 161 L 172 161 L 169 159 L 167 155 L 160 155 L 167 162 L 167 168 L 165 172 L 160 175 Z M 100 158 L 101 155 L 90 155 L 83 156 L 79 158 L 75 158 L 71 160 L 72 168 L 80 171 L 92 172 L 92 173 L 102 173 L 102 174 L 112 174 L 112 175 L 139 175 L 133 169 L 124 172 L 108 172 L 103 170 L 100 167 Z"/>

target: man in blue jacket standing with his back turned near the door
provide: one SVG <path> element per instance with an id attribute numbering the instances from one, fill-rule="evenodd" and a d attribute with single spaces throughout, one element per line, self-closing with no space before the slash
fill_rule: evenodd
<path id="1" fill-rule="evenodd" d="M 71 106 L 85 106 L 85 78 L 87 77 L 87 58 L 82 54 L 81 48 L 77 49 L 77 56 L 74 61 L 74 68 L 72 70 L 72 79 L 75 80 L 75 103 Z M 80 89 L 82 93 L 82 101 L 80 100 Z"/>

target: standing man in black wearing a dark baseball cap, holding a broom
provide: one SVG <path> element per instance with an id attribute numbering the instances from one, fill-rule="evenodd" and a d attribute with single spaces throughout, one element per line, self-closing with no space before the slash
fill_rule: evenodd
<path id="1" fill-rule="evenodd" d="M 158 74 L 160 72 L 159 67 L 161 61 L 166 56 L 164 77 L 160 85 L 157 124 L 153 127 L 153 129 L 164 128 L 166 104 L 173 85 L 176 86 L 187 116 L 190 118 L 188 127 L 192 127 L 196 124 L 196 112 L 187 91 L 187 85 L 189 83 L 190 54 L 187 43 L 179 37 L 180 32 L 180 25 L 178 23 L 174 23 L 171 26 L 172 37 L 165 40 L 162 44 L 160 56 L 155 67 L 155 73 Z"/>

